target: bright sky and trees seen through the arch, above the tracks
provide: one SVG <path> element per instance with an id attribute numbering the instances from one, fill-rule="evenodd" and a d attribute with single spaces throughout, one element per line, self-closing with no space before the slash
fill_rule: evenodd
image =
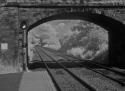
<path id="1" fill-rule="evenodd" d="M 96 58 L 100 63 L 108 63 L 108 31 L 83 20 L 52 20 L 40 24 L 29 32 L 28 45 L 29 61 L 40 61 L 34 52 L 34 47 L 39 45 L 62 56 L 66 54 L 84 60 Z M 107 62 L 103 62 L 105 58 Z M 51 61 L 44 57 L 43 60 Z"/>

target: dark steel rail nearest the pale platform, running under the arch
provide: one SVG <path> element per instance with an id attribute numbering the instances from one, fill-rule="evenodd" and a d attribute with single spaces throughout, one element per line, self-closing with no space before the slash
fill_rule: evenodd
<path id="1" fill-rule="evenodd" d="M 38 52 L 38 50 L 37 50 L 36 48 L 35 48 L 35 51 L 36 51 L 36 53 L 38 54 L 38 56 L 40 57 L 41 61 L 43 61 L 41 55 L 39 54 L 39 52 Z M 55 87 L 56 87 L 56 90 L 57 90 L 57 91 L 62 91 L 61 88 L 59 87 L 59 85 L 57 84 L 56 80 L 54 79 L 52 73 L 50 72 L 48 65 L 47 65 L 44 61 L 43 61 L 43 63 L 44 63 L 44 65 L 45 65 L 45 68 L 46 68 L 48 74 L 50 75 L 50 77 L 51 77 L 51 79 L 52 79 L 52 81 L 53 81 Z"/>

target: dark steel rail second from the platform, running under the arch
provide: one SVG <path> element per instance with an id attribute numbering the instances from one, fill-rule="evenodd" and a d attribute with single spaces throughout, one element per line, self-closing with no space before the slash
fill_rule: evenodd
<path id="1" fill-rule="evenodd" d="M 84 87 L 88 88 L 90 91 L 96 91 L 95 88 L 93 88 L 92 86 L 90 86 L 88 83 L 86 83 L 85 81 L 83 81 L 82 79 L 80 79 L 78 76 L 76 76 L 74 73 L 72 73 L 70 70 L 68 70 L 63 64 L 57 62 L 53 57 L 51 57 L 50 55 L 48 55 L 43 49 L 41 49 L 42 52 L 44 54 L 46 54 L 49 58 L 52 59 L 52 61 L 56 62 L 57 64 L 60 65 L 60 67 L 62 67 L 66 72 L 68 72 L 72 77 L 74 77 L 79 83 L 81 83 Z"/>

